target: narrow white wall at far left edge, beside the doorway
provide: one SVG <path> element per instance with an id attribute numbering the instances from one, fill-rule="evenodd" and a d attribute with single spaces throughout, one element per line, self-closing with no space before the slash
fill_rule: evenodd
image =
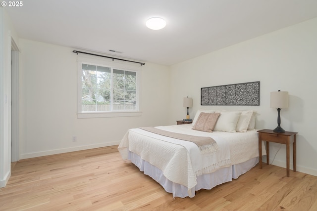
<path id="1" fill-rule="evenodd" d="M 11 174 L 11 39 L 18 36 L 0 6 L 0 187 Z M 18 42 L 16 43 L 18 45 Z"/>

